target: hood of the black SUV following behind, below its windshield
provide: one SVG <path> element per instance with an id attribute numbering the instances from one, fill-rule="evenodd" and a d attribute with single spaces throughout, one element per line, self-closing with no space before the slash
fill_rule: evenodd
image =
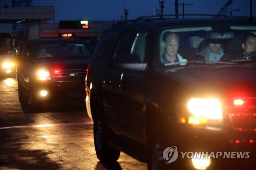
<path id="1" fill-rule="evenodd" d="M 34 62 L 38 67 L 52 69 L 87 69 L 90 59 L 40 59 Z"/>

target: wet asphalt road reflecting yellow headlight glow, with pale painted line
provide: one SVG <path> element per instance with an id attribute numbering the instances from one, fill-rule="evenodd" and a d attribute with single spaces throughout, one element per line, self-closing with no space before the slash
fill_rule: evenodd
<path id="1" fill-rule="evenodd" d="M 74 102 L 45 103 L 40 113 L 18 102 L 15 78 L 0 78 L 0 169 L 146 169 L 121 153 L 102 165 L 93 122 Z"/>

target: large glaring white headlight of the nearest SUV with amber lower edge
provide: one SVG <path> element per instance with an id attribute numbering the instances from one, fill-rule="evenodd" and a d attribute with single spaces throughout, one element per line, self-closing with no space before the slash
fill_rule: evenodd
<path id="1" fill-rule="evenodd" d="M 191 99 L 187 103 L 189 112 L 193 115 L 188 119 L 189 124 L 205 125 L 209 120 L 222 120 L 221 103 L 218 99 Z"/>

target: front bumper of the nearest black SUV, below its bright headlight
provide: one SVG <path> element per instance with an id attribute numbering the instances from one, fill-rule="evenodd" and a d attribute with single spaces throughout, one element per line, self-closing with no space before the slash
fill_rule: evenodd
<path id="1" fill-rule="evenodd" d="M 191 157 L 201 154 L 199 157 L 210 159 L 209 169 L 255 168 L 255 131 L 233 131 L 232 129 L 214 131 L 192 126 L 183 126 L 178 129 L 175 137 L 169 137 L 166 147 L 175 145 L 178 148 L 179 160 L 184 164 L 192 165 Z"/>

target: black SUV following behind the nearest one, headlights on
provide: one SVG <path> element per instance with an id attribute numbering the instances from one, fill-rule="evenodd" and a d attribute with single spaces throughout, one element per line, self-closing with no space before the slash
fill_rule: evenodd
<path id="1" fill-rule="evenodd" d="M 84 103 L 90 46 L 78 39 L 40 39 L 24 44 L 18 56 L 19 102 L 40 111 L 45 101 Z"/>

